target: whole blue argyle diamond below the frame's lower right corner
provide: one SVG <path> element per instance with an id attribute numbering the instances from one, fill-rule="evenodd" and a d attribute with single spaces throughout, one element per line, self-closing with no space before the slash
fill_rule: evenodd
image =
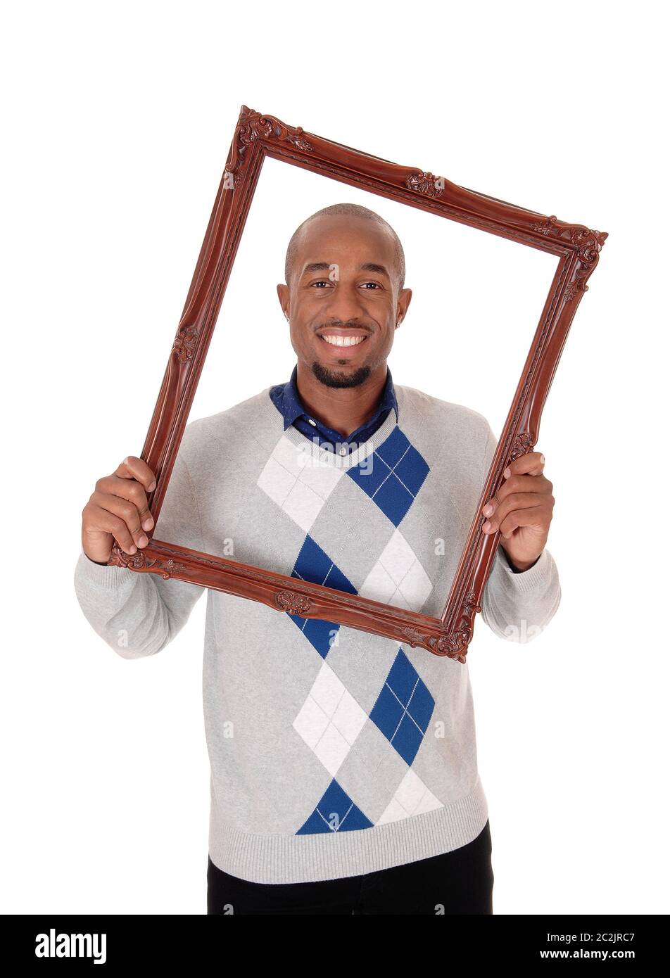
<path id="1" fill-rule="evenodd" d="M 399 648 L 370 719 L 410 766 L 421 747 L 434 708 L 435 700 L 424 681 Z"/>

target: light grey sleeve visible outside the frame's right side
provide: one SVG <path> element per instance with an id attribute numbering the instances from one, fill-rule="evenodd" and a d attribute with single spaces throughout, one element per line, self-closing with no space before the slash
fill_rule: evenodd
<path id="1" fill-rule="evenodd" d="M 497 444 L 489 427 L 482 485 Z M 530 642 L 547 627 L 559 603 L 558 567 L 546 547 L 531 566 L 517 570 L 498 545 L 481 601 L 481 616 L 495 635 L 513 642 Z"/>

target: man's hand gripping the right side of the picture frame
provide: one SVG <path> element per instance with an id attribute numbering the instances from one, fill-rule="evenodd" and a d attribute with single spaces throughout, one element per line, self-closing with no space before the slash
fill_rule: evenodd
<path id="1" fill-rule="evenodd" d="M 482 508 L 484 533 L 500 529 L 501 547 L 514 567 L 526 570 L 542 554 L 554 514 L 553 483 L 543 472 L 545 457 L 528 452 L 505 469 L 506 481 Z"/>

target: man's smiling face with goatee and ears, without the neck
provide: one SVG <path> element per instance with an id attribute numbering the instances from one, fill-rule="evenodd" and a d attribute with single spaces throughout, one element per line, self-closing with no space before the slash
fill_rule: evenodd
<path id="1" fill-rule="evenodd" d="M 298 361 L 329 386 L 356 386 L 380 368 L 412 290 L 398 289 L 394 242 L 377 222 L 315 218 L 301 233 L 290 285 L 277 287 Z"/>

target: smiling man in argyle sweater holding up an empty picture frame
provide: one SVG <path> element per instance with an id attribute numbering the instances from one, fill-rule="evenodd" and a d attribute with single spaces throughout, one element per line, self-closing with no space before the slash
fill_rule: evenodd
<path id="1" fill-rule="evenodd" d="M 236 560 L 439 615 L 495 436 L 471 409 L 393 385 L 412 292 L 379 214 L 307 218 L 286 280 L 289 382 L 187 426 L 156 538 L 232 543 Z M 560 600 L 543 470 L 537 452 L 515 460 L 483 512 L 482 532 L 501 531 L 482 598 L 500 637 L 536 635 Z M 153 487 L 129 456 L 82 513 L 76 594 L 125 658 L 167 645 L 206 590 L 107 566 L 114 540 L 147 545 Z M 203 698 L 208 913 L 493 912 L 467 664 L 207 590 Z"/>

